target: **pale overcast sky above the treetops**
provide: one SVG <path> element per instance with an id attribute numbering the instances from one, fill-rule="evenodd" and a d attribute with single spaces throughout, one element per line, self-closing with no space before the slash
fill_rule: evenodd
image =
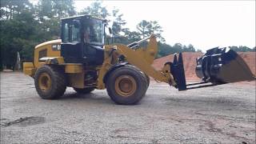
<path id="1" fill-rule="evenodd" d="M 75 1 L 76 10 L 92 1 Z M 192 44 L 200 50 L 216 46 L 249 46 L 255 42 L 255 1 L 103 1 L 123 14 L 127 28 L 142 19 L 162 26 L 166 43 Z"/>

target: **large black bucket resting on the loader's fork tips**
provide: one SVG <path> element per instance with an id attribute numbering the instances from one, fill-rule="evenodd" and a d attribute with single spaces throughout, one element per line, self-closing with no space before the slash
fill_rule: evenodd
<path id="1" fill-rule="evenodd" d="M 229 48 L 213 48 L 197 58 L 195 72 L 205 82 L 230 83 L 255 80 L 246 62 Z"/>

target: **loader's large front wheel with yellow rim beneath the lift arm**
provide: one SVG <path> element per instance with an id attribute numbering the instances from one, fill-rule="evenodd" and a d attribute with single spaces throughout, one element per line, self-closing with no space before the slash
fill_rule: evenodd
<path id="1" fill-rule="evenodd" d="M 110 73 L 106 79 L 106 90 L 115 103 L 133 105 L 144 97 L 147 84 L 140 70 L 126 65 Z"/>

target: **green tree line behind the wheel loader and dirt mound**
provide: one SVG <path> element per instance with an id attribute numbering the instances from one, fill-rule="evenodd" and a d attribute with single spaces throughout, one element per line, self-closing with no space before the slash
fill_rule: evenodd
<path id="1" fill-rule="evenodd" d="M 154 20 L 142 20 L 137 30 L 126 28 L 126 20 L 118 8 L 107 10 L 101 1 L 94 1 L 81 11 L 74 9 L 74 0 L 2 0 L 0 18 L 1 65 L 14 68 L 19 52 L 22 62 L 33 61 L 34 46 L 60 36 L 60 18 L 90 14 L 105 18 L 113 30 L 114 42 L 128 44 L 155 34 L 158 41 L 158 58 L 178 52 L 201 51 L 193 45 L 175 43 L 170 46 L 162 37 L 162 26 Z M 231 46 L 236 51 L 255 51 L 246 46 Z"/>

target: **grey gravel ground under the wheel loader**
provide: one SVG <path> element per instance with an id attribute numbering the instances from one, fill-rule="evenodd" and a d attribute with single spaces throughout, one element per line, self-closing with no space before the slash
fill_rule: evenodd
<path id="1" fill-rule="evenodd" d="M 1 143 L 255 143 L 255 82 L 178 92 L 151 82 L 135 106 L 106 90 L 58 100 L 38 97 L 34 80 L 1 73 Z"/>

